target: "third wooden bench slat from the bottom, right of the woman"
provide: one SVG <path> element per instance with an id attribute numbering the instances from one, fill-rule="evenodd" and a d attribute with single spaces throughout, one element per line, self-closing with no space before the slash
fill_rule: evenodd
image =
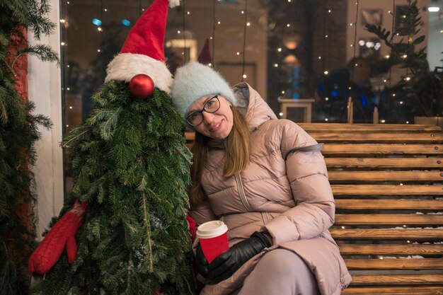
<path id="1" fill-rule="evenodd" d="M 442 258 L 345 259 L 349 270 L 443 270 Z"/>

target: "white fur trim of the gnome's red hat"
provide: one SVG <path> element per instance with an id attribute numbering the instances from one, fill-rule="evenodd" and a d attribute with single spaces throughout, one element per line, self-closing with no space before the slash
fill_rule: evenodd
<path id="1" fill-rule="evenodd" d="M 110 80 L 131 81 L 137 74 L 146 74 L 154 81 L 154 86 L 166 93 L 171 92 L 172 74 L 164 62 L 144 54 L 120 53 L 108 64 L 108 75 L 105 82 Z"/>

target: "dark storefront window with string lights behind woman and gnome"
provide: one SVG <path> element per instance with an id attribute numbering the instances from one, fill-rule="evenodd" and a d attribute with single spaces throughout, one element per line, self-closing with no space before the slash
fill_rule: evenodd
<path id="1" fill-rule="evenodd" d="M 88 116 L 108 62 L 151 2 L 62 0 L 64 135 Z M 405 50 L 412 50 L 408 52 L 427 47 L 429 71 L 442 66 L 442 18 L 427 10 L 430 1 L 418 1 L 417 27 L 405 16 L 407 0 L 180 2 L 170 9 L 166 29 L 171 72 L 196 60 L 208 39 L 211 64 L 229 83 L 250 83 L 277 117 L 295 122 L 348 122 L 350 101 L 355 123 L 372 123 L 374 110 L 380 123 L 414 122 L 416 106 L 408 103 L 412 92 L 400 83 L 413 73 L 391 66 L 391 47 L 368 31 L 367 24 L 393 31 L 393 41 L 403 40 Z M 442 0 L 437 2 L 442 6 Z M 420 35 L 423 42 L 414 42 Z M 282 108 L 288 101 L 301 108 Z M 308 106 L 311 113 L 306 116 Z M 437 101 L 427 108 L 435 107 L 437 115 L 436 106 Z M 66 194 L 71 190 L 68 163 L 65 151 Z"/>

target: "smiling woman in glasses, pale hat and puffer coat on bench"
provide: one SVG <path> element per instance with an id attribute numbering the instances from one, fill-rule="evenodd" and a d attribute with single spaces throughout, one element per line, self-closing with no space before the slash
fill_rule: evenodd
<path id="1" fill-rule="evenodd" d="M 195 243 L 201 294 L 340 294 L 351 277 L 328 232 L 321 145 L 247 83 L 231 90 L 196 62 L 178 69 L 171 96 L 195 129 L 190 215 L 229 229 L 229 250 L 211 263 Z"/>

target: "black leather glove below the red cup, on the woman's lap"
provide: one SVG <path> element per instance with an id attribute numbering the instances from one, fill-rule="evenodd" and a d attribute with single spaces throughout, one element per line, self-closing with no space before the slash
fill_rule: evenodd
<path id="1" fill-rule="evenodd" d="M 212 260 L 207 267 L 207 278 L 218 283 L 231 277 L 241 265 L 271 245 L 272 238 L 268 233 L 255 231 L 250 238 L 236 243 Z"/>

